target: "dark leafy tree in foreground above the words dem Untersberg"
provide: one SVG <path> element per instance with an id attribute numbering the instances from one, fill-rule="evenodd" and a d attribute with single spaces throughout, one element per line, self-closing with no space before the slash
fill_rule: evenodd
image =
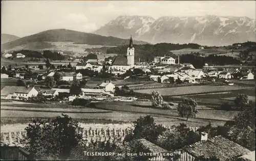
<path id="1" fill-rule="evenodd" d="M 166 130 L 162 125 L 157 125 L 154 118 L 149 115 L 141 116 L 134 121 L 133 127 L 125 135 L 124 142 L 130 142 L 134 139 L 146 139 L 156 143 L 157 137 Z"/>

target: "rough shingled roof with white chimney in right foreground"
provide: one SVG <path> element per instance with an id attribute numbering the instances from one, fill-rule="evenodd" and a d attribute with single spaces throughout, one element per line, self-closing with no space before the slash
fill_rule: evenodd
<path id="1" fill-rule="evenodd" d="M 216 156 L 220 160 L 229 160 L 251 152 L 221 135 L 208 139 L 206 133 L 202 133 L 200 142 L 185 146 L 182 150 L 186 153 L 187 158 Z"/>

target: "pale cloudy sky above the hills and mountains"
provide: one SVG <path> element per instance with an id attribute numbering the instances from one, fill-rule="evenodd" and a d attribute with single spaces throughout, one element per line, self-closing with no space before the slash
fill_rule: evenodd
<path id="1" fill-rule="evenodd" d="M 2 1 L 2 33 L 19 37 L 51 29 L 93 32 L 119 15 L 247 16 L 256 1 Z"/>

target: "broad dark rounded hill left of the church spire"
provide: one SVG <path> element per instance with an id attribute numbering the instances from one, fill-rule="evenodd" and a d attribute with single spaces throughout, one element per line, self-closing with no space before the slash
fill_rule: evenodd
<path id="1" fill-rule="evenodd" d="M 1 47 L 3 50 L 10 50 L 18 47 L 31 50 L 47 49 L 54 47 L 54 44 L 51 42 L 74 42 L 77 44 L 117 46 L 129 44 L 129 40 L 129 36 L 127 36 L 126 39 L 122 39 L 113 36 L 101 36 L 67 29 L 54 29 L 3 43 L 1 44 Z M 134 40 L 134 43 L 146 44 L 148 42 Z"/>

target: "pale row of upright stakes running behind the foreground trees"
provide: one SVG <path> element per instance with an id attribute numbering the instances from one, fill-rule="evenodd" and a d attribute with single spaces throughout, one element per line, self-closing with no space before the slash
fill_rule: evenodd
<path id="1" fill-rule="evenodd" d="M 171 126 L 164 126 L 170 131 L 174 131 L 175 128 Z M 198 127 L 190 127 L 191 130 L 197 131 Z M 114 138 L 119 138 L 121 140 L 124 139 L 125 135 L 129 132 L 129 128 L 124 129 L 93 129 L 90 127 L 89 129 L 83 129 L 83 139 L 86 140 L 88 143 L 95 143 L 95 142 L 104 142 L 104 141 L 113 141 Z M 20 146 L 23 145 L 20 143 L 26 136 L 26 131 L 15 131 L 15 132 L 8 132 L 8 133 L 1 133 L 1 145 L 9 145 L 9 146 Z"/>

